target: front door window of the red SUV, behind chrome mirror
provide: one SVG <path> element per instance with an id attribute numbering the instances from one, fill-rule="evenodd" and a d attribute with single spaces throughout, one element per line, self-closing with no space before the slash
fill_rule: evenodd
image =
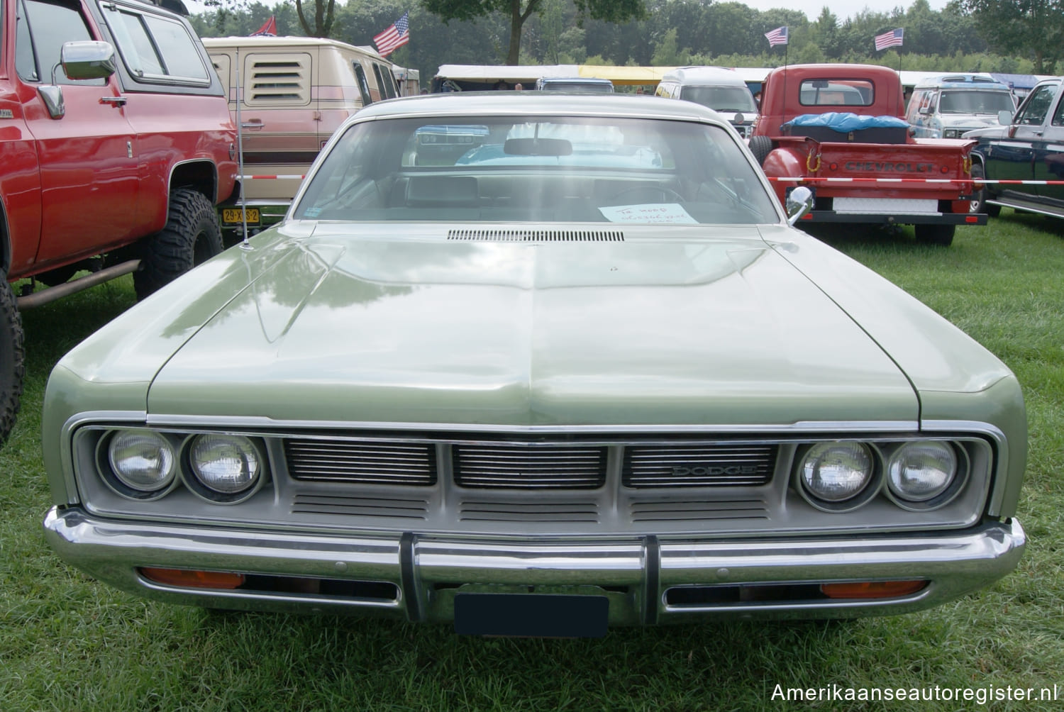
<path id="1" fill-rule="evenodd" d="M 103 86 L 105 79 L 67 79 L 60 66 L 63 43 L 95 39 L 81 9 L 71 2 L 20 0 L 17 10 L 15 69 L 24 82 L 92 84 Z"/>

